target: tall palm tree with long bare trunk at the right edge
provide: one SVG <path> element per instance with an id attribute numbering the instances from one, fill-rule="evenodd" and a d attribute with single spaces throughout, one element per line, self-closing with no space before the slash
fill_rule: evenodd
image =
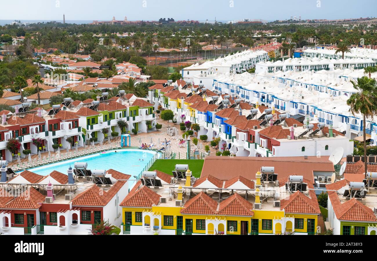
<path id="1" fill-rule="evenodd" d="M 350 106 L 353 115 L 363 114 L 363 141 L 364 141 L 364 156 L 366 157 L 366 118 L 373 118 L 377 114 L 377 85 L 375 79 L 368 79 L 363 76 L 357 78 L 357 83 L 352 81 L 352 85 L 356 90 L 347 100 L 347 105 Z M 367 173 L 367 161 L 364 162 L 365 178 Z"/>

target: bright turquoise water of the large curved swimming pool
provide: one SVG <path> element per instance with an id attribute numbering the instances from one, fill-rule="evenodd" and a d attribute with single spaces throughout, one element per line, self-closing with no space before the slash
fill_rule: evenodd
<path id="1" fill-rule="evenodd" d="M 49 175 L 54 170 L 67 174 L 69 166 L 73 168 L 75 162 L 87 162 L 88 169 L 90 170 L 108 170 L 112 168 L 113 170 L 117 170 L 133 176 L 138 175 L 140 171 L 142 171 L 144 167 L 146 167 L 148 162 L 156 155 L 156 152 L 149 150 L 130 149 L 116 151 L 116 153 L 115 150 L 111 150 L 106 153 L 96 153 L 89 156 L 69 159 L 67 161 L 61 161 L 41 167 L 31 168 L 29 169 L 29 171 L 43 176 Z M 157 155 L 158 158 L 161 156 L 161 154 L 159 153 Z"/>

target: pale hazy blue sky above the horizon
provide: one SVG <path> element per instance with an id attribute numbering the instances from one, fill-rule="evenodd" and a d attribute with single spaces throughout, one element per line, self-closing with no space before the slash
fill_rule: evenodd
<path id="1" fill-rule="evenodd" d="M 375 17 L 376 0 L 2 0 L 0 20 L 284 20 Z"/>

